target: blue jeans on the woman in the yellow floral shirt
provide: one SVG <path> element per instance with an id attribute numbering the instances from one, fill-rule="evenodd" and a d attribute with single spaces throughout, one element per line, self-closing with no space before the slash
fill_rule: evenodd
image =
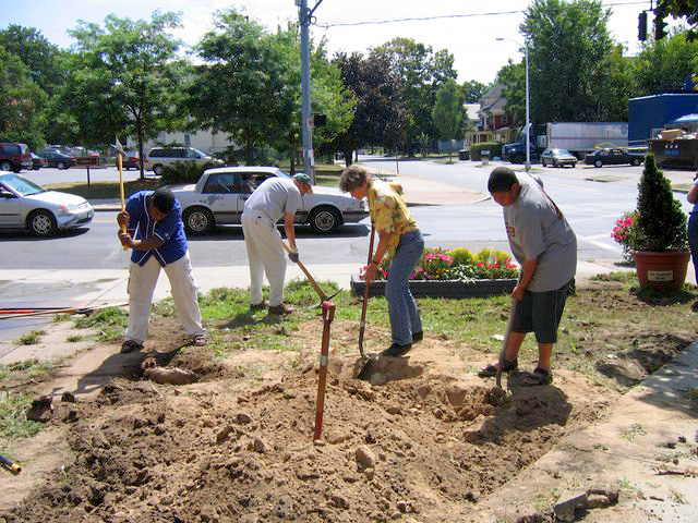
<path id="1" fill-rule="evenodd" d="M 388 269 L 385 299 L 388 302 L 393 342 L 400 345 L 412 343 L 412 333 L 422 330 L 419 308 L 408 283 L 423 251 L 424 239 L 419 230 L 402 234 Z"/>

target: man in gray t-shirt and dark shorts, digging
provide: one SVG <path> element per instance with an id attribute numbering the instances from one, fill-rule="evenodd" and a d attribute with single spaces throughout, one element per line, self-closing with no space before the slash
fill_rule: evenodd
<path id="1" fill-rule="evenodd" d="M 527 385 L 546 385 L 557 327 L 563 315 L 569 281 L 577 270 L 577 238 L 555 203 L 531 177 L 497 167 L 490 174 L 488 190 L 503 207 L 504 224 L 521 275 L 514 291 L 515 313 L 503 370 L 517 368 L 518 352 L 527 332 L 535 333 L 538 365 Z M 481 376 L 496 374 L 488 365 Z"/>

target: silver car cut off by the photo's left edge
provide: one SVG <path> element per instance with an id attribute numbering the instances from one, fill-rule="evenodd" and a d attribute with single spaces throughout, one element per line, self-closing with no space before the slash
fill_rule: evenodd
<path id="1" fill-rule="evenodd" d="M 19 174 L 0 174 L 0 228 L 28 229 L 37 236 L 86 226 L 95 211 L 74 194 L 46 191 Z"/>

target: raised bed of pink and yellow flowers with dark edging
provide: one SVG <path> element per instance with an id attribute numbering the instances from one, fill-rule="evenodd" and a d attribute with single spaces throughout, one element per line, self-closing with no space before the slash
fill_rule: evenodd
<path id="1" fill-rule="evenodd" d="M 381 263 L 370 285 L 371 296 L 384 294 L 390 262 Z M 363 294 L 365 269 L 351 277 L 351 290 L 357 295 Z M 410 290 L 418 297 L 490 296 L 512 292 L 517 277 L 518 268 L 503 251 L 483 248 L 473 254 L 467 248 L 428 248 L 410 275 Z"/>

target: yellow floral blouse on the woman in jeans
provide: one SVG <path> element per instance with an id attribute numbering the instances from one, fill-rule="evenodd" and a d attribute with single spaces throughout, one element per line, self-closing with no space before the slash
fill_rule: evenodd
<path id="1" fill-rule="evenodd" d="M 417 230 L 407 204 L 392 184 L 381 180 L 373 180 L 369 187 L 369 210 L 375 230 L 381 233 L 392 233 L 387 254 L 393 256 L 397 251 L 400 236 Z"/>

